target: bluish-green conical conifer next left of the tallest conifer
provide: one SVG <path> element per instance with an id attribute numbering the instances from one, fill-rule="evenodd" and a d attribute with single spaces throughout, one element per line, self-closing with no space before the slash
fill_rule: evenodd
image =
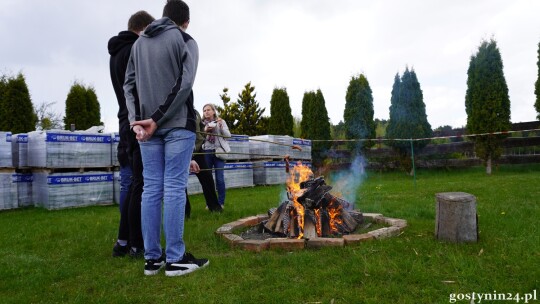
<path id="1" fill-rule="evenodd" d="M 389 141 L 388 145 L 398 151 L 402 166 L 410 170 L 409 156 L 420 151 L 429 140 L 412 141 L 412 151 L 411 141 L 407 139 L 428 138 L 431 135 L 420 83 L 414 70 L 406 68 L 401 79 L 399 74 L 394 77 L 386 137 L 399 140 Z"/>

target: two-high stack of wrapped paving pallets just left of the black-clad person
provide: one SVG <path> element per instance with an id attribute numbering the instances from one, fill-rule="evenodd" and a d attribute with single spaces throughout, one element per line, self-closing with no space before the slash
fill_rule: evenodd
<path id="1" fill-rule="evenodd" d="M 85 131 L 28 133 L 33 203 L 46 209 L 112 204 L 111 134 Z"/>

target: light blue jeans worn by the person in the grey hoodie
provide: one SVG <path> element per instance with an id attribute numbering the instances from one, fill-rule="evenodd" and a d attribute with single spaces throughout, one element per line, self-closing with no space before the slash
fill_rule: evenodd
<path id="1" fill-rule="evenodd" d="M 158 129 L 148 141 L 139 144 L 144 177 L 141 203 L 144 257 L 158 259 L 161 256 L 163 213 L 167 262 L 176 262 L 186 250 L 186 187 L 195 133 L 180 128 Z"/>

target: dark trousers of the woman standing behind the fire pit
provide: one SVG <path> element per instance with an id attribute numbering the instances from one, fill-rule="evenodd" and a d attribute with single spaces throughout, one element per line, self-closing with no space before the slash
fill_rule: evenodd
<path id="1" fill-rule="evenodd" d="M 196 174 L 201 183 L 204 199 L 206 200 L 206 206 L 208 210 L 221 212 L 223 209 L 218 203 L 217 194 L 216 194 L 216 185 L 214 184 L 214 177 L 212 176 L 212 170 L 207 170 L 208 164 L 206 163 L 205 157 L 202 154 L 193 154 L 192 159 L 197 162 L 201 171 Z M 206 169 L 206 170 L 203 170 Z M 191 215 L 191 204 L 189 202 L 189 196 L 187 195 L 186 188 L 186 217 Z"/>

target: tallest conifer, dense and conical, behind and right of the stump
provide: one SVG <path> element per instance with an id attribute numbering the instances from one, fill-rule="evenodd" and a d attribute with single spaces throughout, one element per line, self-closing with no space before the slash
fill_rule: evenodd
<path id="1" fill-rule="evenodd" d="M 511 127 L 508 86 L 501 54 L 493 39 L 483 41 L 471 57 L 465 110 L 469 134 L 508 131 Z M 491 174 L 492 162 L 501 155 L 501 142 L 505 137 L 504 134 L 472 137 L 475 152 L 484 160 L 487 174 Z"/>

